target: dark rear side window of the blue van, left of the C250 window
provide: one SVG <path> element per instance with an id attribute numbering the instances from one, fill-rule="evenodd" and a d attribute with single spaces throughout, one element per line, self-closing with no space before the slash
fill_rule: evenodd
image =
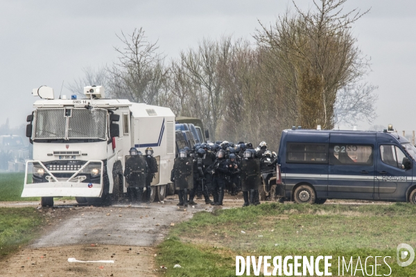
<path id="1" fill-rule="evenodd" d="M 288 143 L 288 163 L 328 163 L 327 143 Z"/>

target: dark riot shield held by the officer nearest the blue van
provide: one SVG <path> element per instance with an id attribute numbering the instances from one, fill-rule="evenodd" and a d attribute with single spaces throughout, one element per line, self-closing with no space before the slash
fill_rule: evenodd
<path id="1" fill-rule="evenodd" d="M 259 159 L 243 159 L 241 161 L 241 187 L 243 191 L 258 190 L 260 188 Z"/>

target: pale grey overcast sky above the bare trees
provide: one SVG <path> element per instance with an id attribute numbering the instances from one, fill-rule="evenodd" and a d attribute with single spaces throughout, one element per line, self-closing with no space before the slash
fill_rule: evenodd
<path id="1" fill-rule="evenodd" d="M 304 10 L 311 0 L 297 0 Z M 32 110 L 31 90 L 46 84 L 59 95 L 62 80 L 72 82 L 85 66 L 110 64 L 120 46 L 116 33 L 143 27 L 159 39 L 168 58 L 196 46 L 203 37 L 252 39 L 258 19 L 275 21 L 290 1 L 0 1 L 0 125 L 21 125 Z M 372 125 L 392 123 L 416 129 L 416 1 L 349 0 L 346 9 L 372 8 L 354 26 L 358 45 L 372 59 L 367 80 L 379 86 L 378 117 Z M 70 96 L 67 89 L 62 94 Z M 358 123 L 366 129 L 367 123 Z"/>

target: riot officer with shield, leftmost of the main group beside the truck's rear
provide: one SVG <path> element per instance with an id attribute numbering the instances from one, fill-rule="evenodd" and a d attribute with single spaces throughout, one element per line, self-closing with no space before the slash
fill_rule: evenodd
<path id="1" fill-rule="evenodd" d="M 177 206 L 188 206 L 188 190 L 193 188 L 193 159 L 187 157 L 183 149 L 179 151 L 178 157 L 173 164 L 173 183 L 175 190 L 179 190 L 179 203 Z"/>

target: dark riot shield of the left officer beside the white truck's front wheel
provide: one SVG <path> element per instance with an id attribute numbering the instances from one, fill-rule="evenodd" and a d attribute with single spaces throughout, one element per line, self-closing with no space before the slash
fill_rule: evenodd
<path id="1" fill-rule="evenodd" d="M 146 186 L 146 157 L 125 156 L 125 187 L 144 188 Z"/>

